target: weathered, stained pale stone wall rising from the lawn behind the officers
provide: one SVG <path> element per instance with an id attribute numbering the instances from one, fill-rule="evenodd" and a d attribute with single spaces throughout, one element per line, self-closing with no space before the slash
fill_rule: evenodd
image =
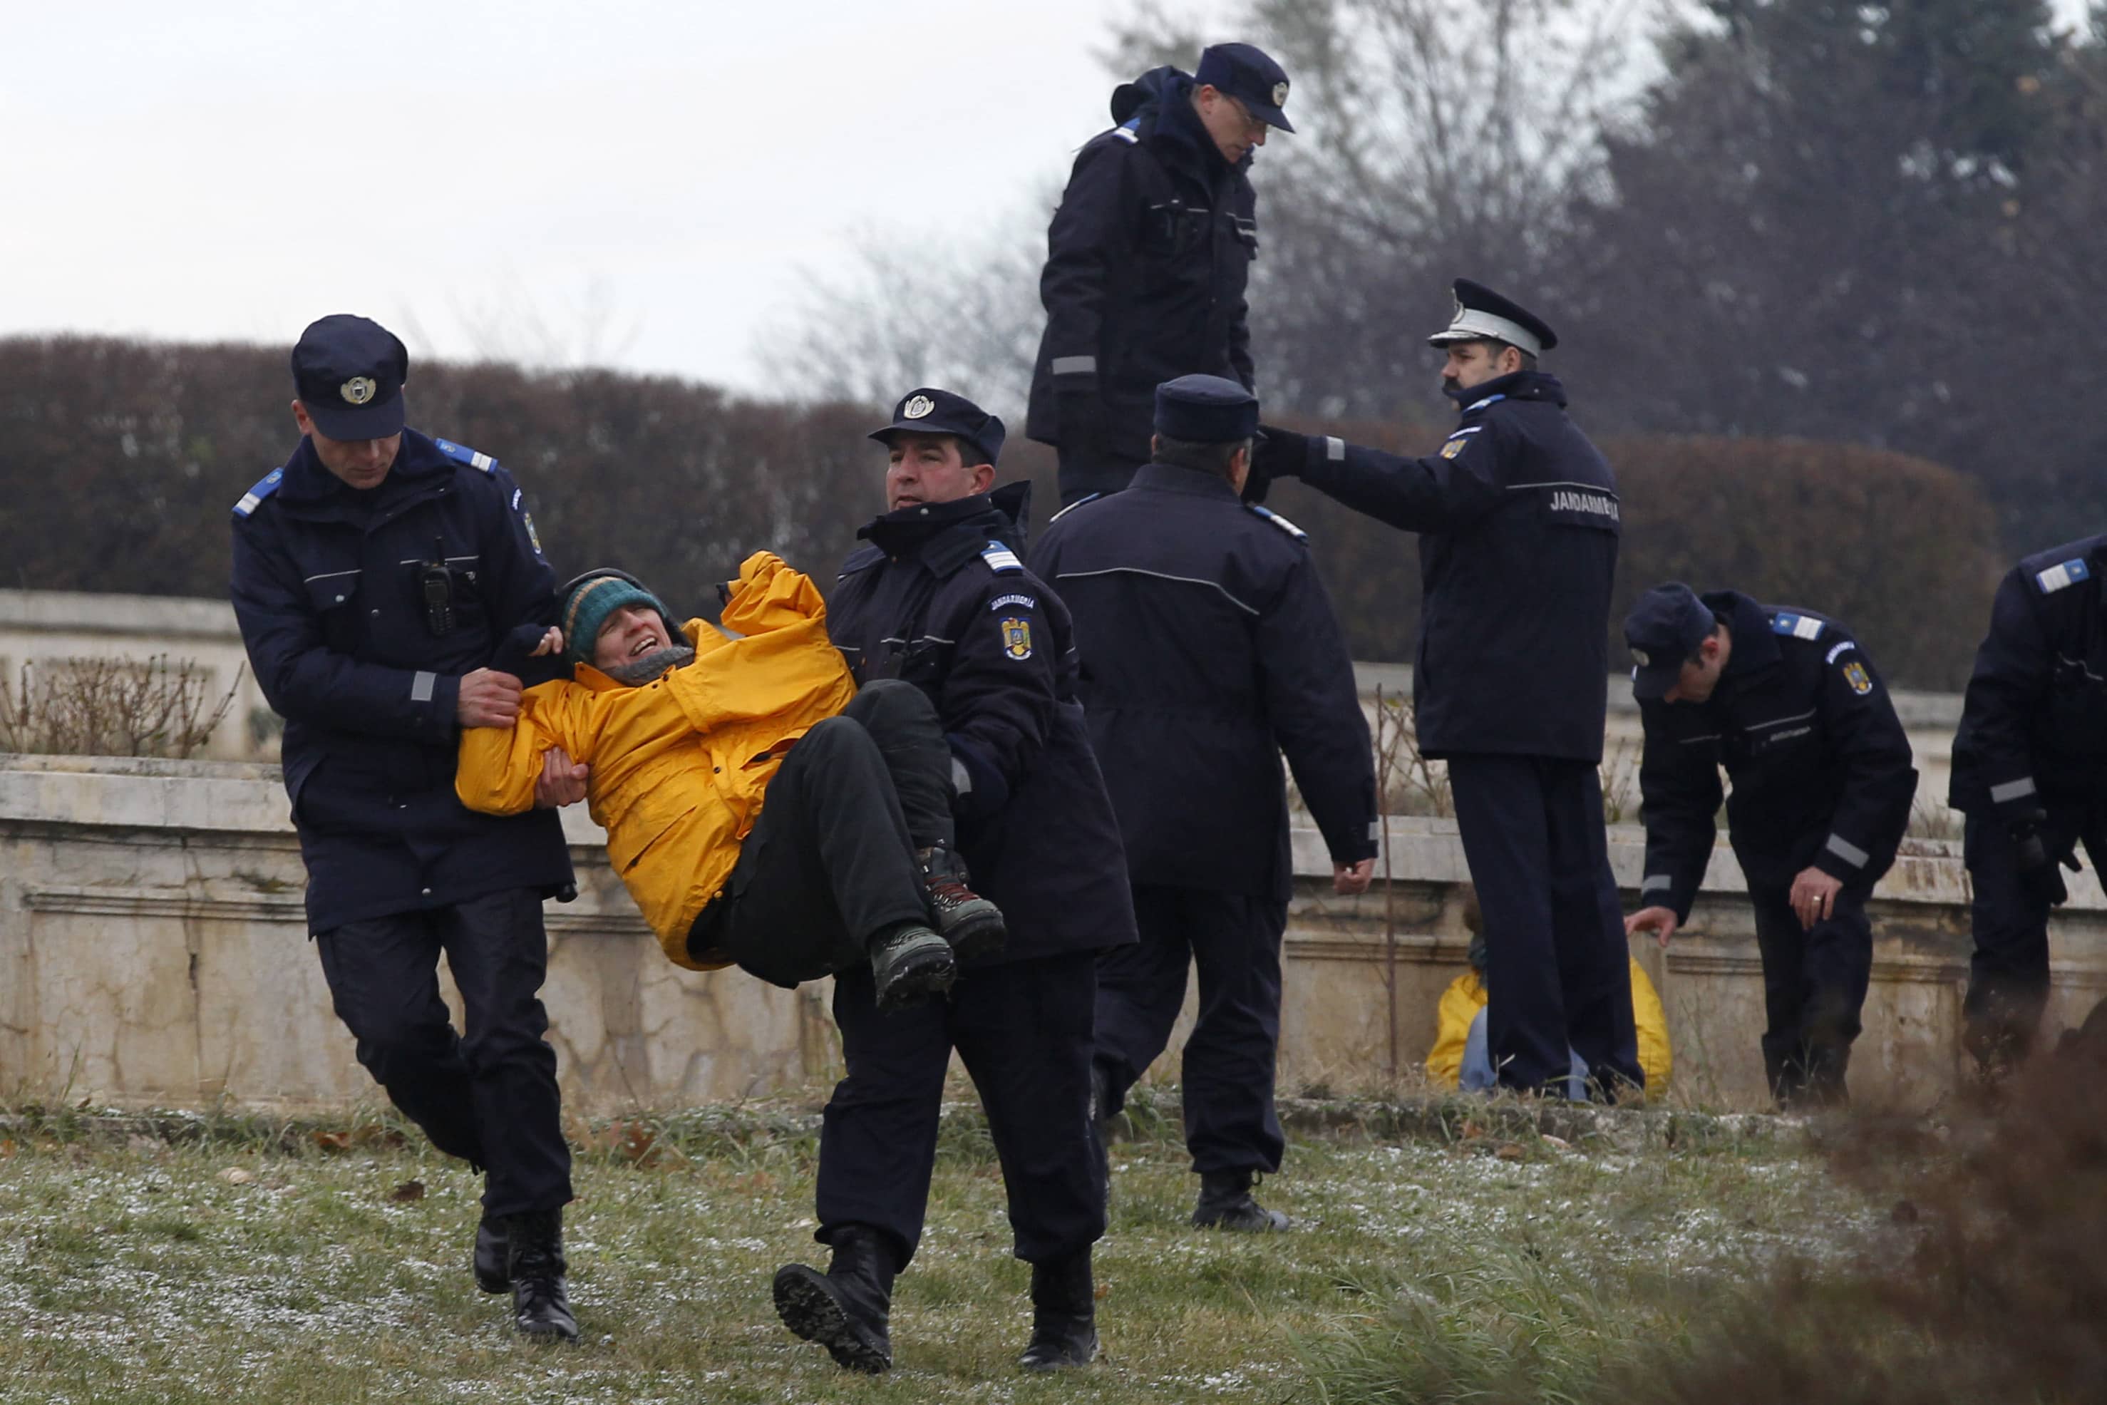
<path id="1" fill-rule="evenodd" d="M 573 1110 L 750 1097 L 839 1070 L 824 984 L 790 992 L 672 967 L 582 807 L 565 824 L 582 893 L 548 906 L 544 998 Z M 1966 874 L 1957 847 L 1913 847 L 1875 902 L 1860 1097 L 1928 1100 L 1962 1072 Z M 1612 857 L 1633 889 L 1639 832 L 1612 830 Z M 1283 1087 L 1380 1085 L 1393 1057 L 1412 1076 L 1433 1041 L 1435 1001 L 1466 948 L 1454 824 L 1393 819 L 1389 866 L 1389 897 L 1334 897 L 1321 840 L 1296 834 Z M 0 1095 L 284 1110 L 375 1097 L 329 1009 L 301 883 L 274 767 L 0 756 Z M 2092 874 L 2073 883 L 2054 950 L 2050 1022 L 2075 1022 L 2107 992 L 2107 897 Z M 1761 979 L 1732 855 L 1717 853 L 1667 958 L 1650 942 L 1633 952 L 1669 1009 L 1677 1089 L 1759 1106 Z M 1178 1043 L 1157 1076 L 1176 1076 Z"/>

